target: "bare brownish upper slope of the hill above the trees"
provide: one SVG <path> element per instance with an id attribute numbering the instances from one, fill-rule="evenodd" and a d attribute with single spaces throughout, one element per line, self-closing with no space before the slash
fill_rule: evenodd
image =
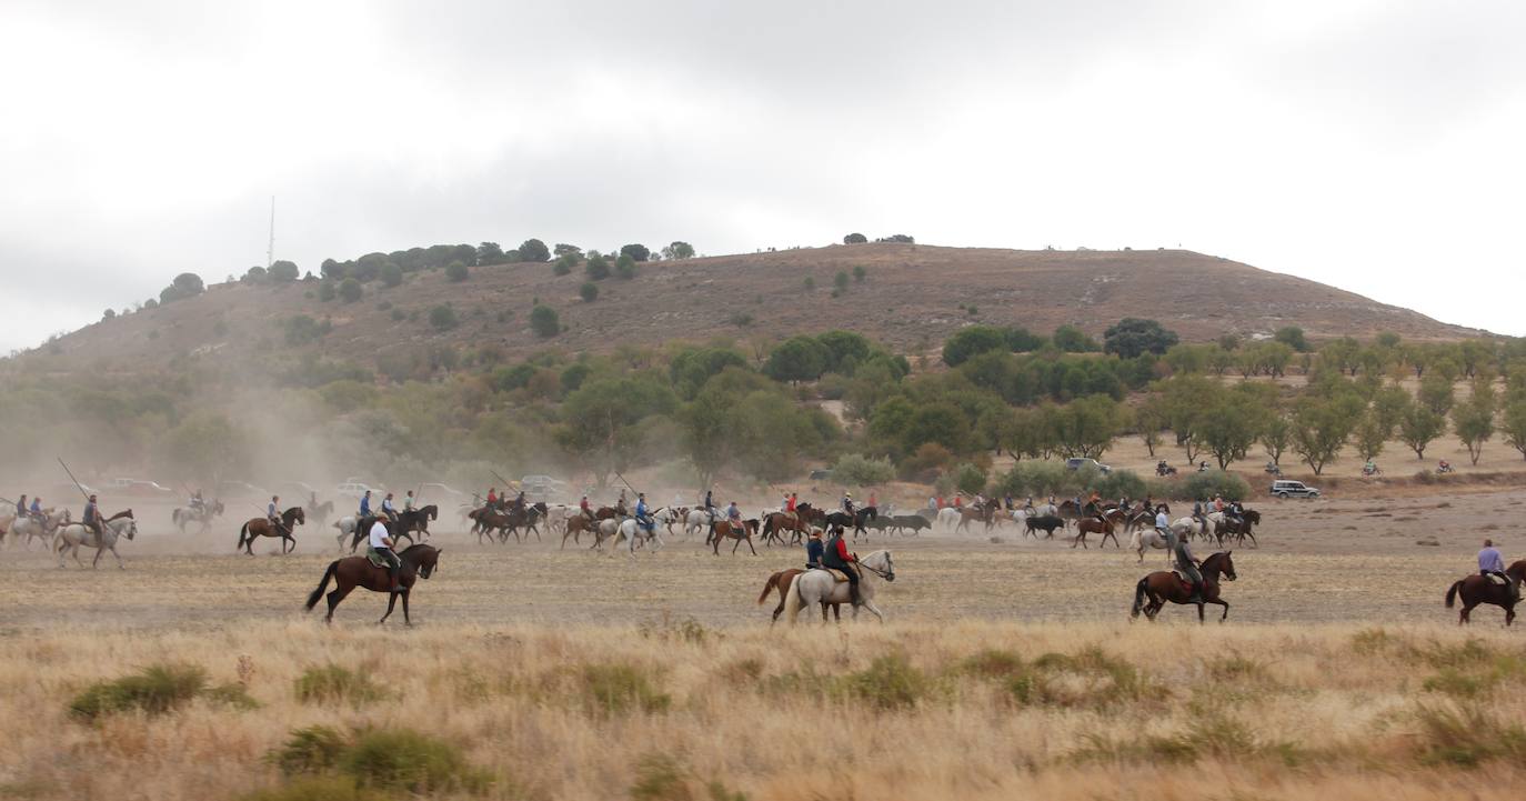
<path id="1" fill-rule="evenodd" d="M 864 267 L 865 279 L 832 298 L 836 273 L 855 267 Z M 815 281 L 813 290 L 804 288 L 807 278 Z M 829 328 L 859 331 L 911 351 L 935 346 L 972 322 L 1038 333 L 1074 323 L 1100 334 L 1126 316 L 1158 319 L 1186 340 L 1224 333 L 1265 336 L 1283 325 L 1299 325 L 1315 339 L 1380 331 L 1422 340 L 1479 334 L 1314 281 L 1186 250 L 859 244 L 661 261 L 642 264 L 632 281 L 601 281 L 591 304 L 578 299 L 583 281 L 581 272 L 555 276 L 549 264 L 476 267 L 464 282 L 424 272 L 395 288 L 366 284 L 365 296 L 353 304 L 320 302 L 316 284 L 223 284 L 198 298 L 85 327 L 49 351 L 60 354 L 55 369 L 140 369 L 211 354 L 240 359 L 287 349 L 284 320 L 296 314 L 327 319 L 333 327 L 307 349 L 362 363 L 389 349 L 444 343 L 493 342 L 507 355 L 522 355 L 548 346 L 604 351 L 671 339 L 783 337 Z M 537 298 L 560 313 L 562 336 L 543 340 L 530 330 Z M 447 302 L 461 323 L 436 331 L 429 310 Z M 966 305 L 977 313 L 961 308 Z"/>

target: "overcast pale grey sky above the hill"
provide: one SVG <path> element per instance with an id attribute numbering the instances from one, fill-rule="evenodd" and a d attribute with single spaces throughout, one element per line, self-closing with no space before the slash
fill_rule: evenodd
<path id="1" fill-rule="evenodd" d="M 0 352 L 276 258 L 1186 247 L 1526 334 L 1526 3 L 0 3 Z"/>

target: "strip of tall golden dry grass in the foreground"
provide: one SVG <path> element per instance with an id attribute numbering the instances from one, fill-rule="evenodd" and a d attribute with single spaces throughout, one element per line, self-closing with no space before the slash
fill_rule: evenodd
<path id="1" fill-rule="evenodd" d="M 58 630 L 0 650 L 11 735 L 0 798 L 1291 799 L 1459 786 L 1505 798 L 1526 778 L 1526 647 L 1511 635 L 1016 622 Z M 92 723 L 70 714 L 89 685 L 154 664 L 200 668 L 209 685 L 241 679 L 258 706 L 194 697 Z M 386 694 L 304 700 L 302 676 L 331 667 Z"/>

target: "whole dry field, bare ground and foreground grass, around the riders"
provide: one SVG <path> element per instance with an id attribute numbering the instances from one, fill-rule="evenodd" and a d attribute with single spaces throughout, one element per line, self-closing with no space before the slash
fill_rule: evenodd
<path id="1" fill-rule="evenodd" d="M 1202 629 L 1184 607 L 1128 622 L 1161 552 L 1138 566 L 1012 529 L 893 537 L 858 546 L 896 555 L 890 626 L 798 630 L 754 606 L 797 551 L 679 540 L 630 563 L 453 532 L 418 626 L 375 629 L 385 600 L 366 594 L 327 629 L 301 601 L 331 537 L 244 557 L 232 526 L 179 537 L 150 510 L 127 571 L 0 551 L 0 798 L 410 796 L 356 795 L 348 763 L 319 784 L 282 775 L 267 752 L 313 725 L 450 743 L 476 778 L 426 793 L 449 798 L 1514 796 L 1526 641 L 1492 607 L 1457 630 L 1442 594 L 1485 531 L 1526 555 L 1523 505 L 1518 490 L 1260 503 L 1230 622 Z M 258 708 L 69 713 L 92 682 L 162 664 L 241 684 Z M 327 665 L 385 700 L 299 697 Z"/>

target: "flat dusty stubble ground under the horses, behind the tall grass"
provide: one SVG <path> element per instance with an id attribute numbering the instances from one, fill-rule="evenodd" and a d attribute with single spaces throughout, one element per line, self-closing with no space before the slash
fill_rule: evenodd
<path id="1" fill-rule="evenodd" d="M 1489 494 L 1422 494 L 1393 499 L 1268 500 L 1259 548 L 1236 548 L 1239 581 L 1225 587 L 1230 622 L 1437 622 L 1447 586 L 1471 571 L 1483 537 L 1508 560 L 1526 557 L 1512 520 L 1526 490 Z M 215 629 L 246 621 L 301 618 L 301 604 L 337 554 L 334 539 L 308 526 L 299 548 L 278 555 L 275 540 L 247 557 L 233 552 L 237 529 L 220 520 L 204 537 L 175 534 L 168 510 L 139 510 L 140 532 L 119 551 L 127 569 L 105 554 L 96 571 L 72 561 L 60 569 L 34 546 L 0 549 L 0 609 L 8 633 L 67 626 Z M 439 523 L 447 523 L 441 519 Z M 774 571 L 803 561 L 800 549 L 743 545 L 713 555 L 697 540 L 670 539 L 661 552 L 601 555 L 584 546 L 540 543 L 479 546 L 462 532 L 439 531 L 439 572 L 415 592 L 418 622 L 638 624 L 694 618 L 705 626 L 765 626 L 755 606 Z M 333 529 L 324 529 L 333 531 Z M 1434 539 L 1439 545 L 1418 545 Z M 897 580 L 881 587 L 881 606 L 896 619 L 1119 621 L 1135 581 L 1161 569 L 1164 552 L 1134 552 L 1112 543 L 1071 548 L 1035 542 L 1015 528 L 990 534 L 934 532 L 876 537 L 868 554 L 890 548 Z M 1126 546 L 1125 537 L 1125 546 Z M 1207 545 L 1195 546 L 1199 557 Z M 84 555 L 89 563 L 90 554 Z M 382 595 L 353 595 L 337 619 L 359 626 L 380 616 Z M 1183 622 L 1186 607 L 1164 619 Z M 1479 613 L 1497 626 L 1499 610 Z M 398 619 L 398 622 L 401 622 Z"/>

